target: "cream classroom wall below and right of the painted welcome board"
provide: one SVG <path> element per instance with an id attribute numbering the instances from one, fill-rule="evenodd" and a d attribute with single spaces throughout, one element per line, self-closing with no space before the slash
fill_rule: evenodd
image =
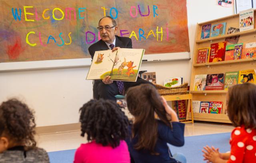
<path id="1" fill-rule="evenodd" d="M 178 5 L 178 4 L 177 4 Z M 193 58 L 196 24 L 234 14 L 217 0 L 187 0 L 190 57 Z M 228 26 L 228 24 L 227 24 Z M 192 60 L 142 63 L 141 70 L 156 72 L 156 82 L 184 77 L 190 82 Z M 92 98 L 89 67 L 0 72 L 0 102 L 17 97 L 35 110 L 37 126 L 78 122 L 78 109 Z"/>

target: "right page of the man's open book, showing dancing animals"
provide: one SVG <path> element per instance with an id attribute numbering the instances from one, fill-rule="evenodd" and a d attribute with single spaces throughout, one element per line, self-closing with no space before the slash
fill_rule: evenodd
<path id="1" fill-rule="evenodd" d="M 114 64 L 113 72 L 110 75 L 111 80 L 135 82 L 144 51 L 144 49 L 118 49 L 116 54 L 117 62 Z"/>

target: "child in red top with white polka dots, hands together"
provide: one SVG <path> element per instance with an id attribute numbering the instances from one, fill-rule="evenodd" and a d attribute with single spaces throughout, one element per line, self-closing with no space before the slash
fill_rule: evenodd
<path id="1" fill-rule="evenodd" d="M 207 163 L 256 163 L 256 85 L 244 83 L 232 86 L 227 96 L 228 118 L 236 127 L 230 138 L 230 153 L 204 147 Z"/>

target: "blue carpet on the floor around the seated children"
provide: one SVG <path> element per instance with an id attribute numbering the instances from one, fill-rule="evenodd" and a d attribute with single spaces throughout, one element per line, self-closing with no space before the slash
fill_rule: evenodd
<path id="1" fill-rule="evenodd" d="M 230 133 L 210 134 L 202 136 L 185 137 L 183 147 L 170 145 L 172 153 L 183 153 L 187 158 L 187 163 L 206 163 L 203 161 L 202 149 L 205 145 L 214 145 L 220 148 L 220 152 L 230 151 Z M 76 149 L 48 152 L 50 163 L 72 163 Z"/>

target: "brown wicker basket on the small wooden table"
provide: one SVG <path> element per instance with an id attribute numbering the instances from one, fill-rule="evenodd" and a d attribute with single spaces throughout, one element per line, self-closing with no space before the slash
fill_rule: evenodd
<path id="1" fill-rule="evenodd" d="M 186 94 L 188 90 L 188 83 L 181 84 L 180 86 L 166 87 L 159 84 L 154 84 L 161 96 Z"/>

